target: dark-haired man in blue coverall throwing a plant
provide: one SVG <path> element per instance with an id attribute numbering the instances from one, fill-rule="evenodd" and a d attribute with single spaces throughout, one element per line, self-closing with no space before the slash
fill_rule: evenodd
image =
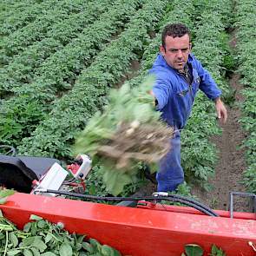
<path id="1" fill-rule="evenodd" d="M 184 24 L 168 24 L 161 35 L 160 54 L 150 74 L 156 76 L 151 94 L 161 118 L 175 130 L 171 150 L 160 161 L 156 174 L 158 191 L 174 191 L 184 181 L 181 167 L 181 135 L 191 113 L 194 96 L 201 89 L 215 102 L 217 117 L 226 122 L 221 91 L 201 63 L 191 54 L 190 32 Z"/>

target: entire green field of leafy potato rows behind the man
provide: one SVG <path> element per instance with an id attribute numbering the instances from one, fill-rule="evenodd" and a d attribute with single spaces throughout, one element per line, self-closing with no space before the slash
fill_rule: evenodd
<path id="1" fill-rule="evenodd" d="M 126 81 L 133 87 L 141 83 L 159 51 L 162 28 L 176 22 L 192 31 L 192 51 L 222 89 L 229 111 L 240 111 L 236 123 L 245 138 L 231 140 L 237 143 L 234 150 L 243 148 L 245 164 L 235 182 L 256 193 L 253 0 L 1 1 L 0 144 L 22 155 L 74 157 L 75 136 L 108 104 L 109 89 Z M 234 74 L 240 75 L 240 102 L 229 82 Z M 187 182 L 180 193 L 190 193 L 191 187 L 214 189 L 210 179 L 220 155 L 230 154 L 228 148 L 220 154 L 214 144 L 222 129 L 213 102 L 200 93 L 181 134 Z M 233 166 L 225 164 L 232 176 Z M 95 166 L 89 175 L 90 194 L 108 194 L 103 171 Z M 123 195 L 144 185 L 138 177 Z"/>

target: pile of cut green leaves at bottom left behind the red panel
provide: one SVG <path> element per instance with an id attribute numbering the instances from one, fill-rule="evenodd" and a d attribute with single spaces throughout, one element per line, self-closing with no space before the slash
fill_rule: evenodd
<path id="1" fill-rule="evenodd" d="M 101 245 L 97 240 L 84 240 L 84 235 L 69 234 L 62 225 L 31 215 L 23 231 L 3 218 L 0 211 L 0 255 L 24 256 L 121 256 L 114 248 Z"/>

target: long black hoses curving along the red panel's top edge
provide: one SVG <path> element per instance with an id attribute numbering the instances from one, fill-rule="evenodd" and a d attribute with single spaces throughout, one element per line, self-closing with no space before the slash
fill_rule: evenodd
<path id="1" fill-rule="evenodd" d="M 218 217 L 219 215 L 207 206 L 200 204 L 199 202 L 191 199 L 187 199 L 186 197 L 182 197 L 180 195 L 170 194 L 167 196 L 139 196 L 139 197 L 108 197 L 108 196 L 96 196 L 96 195 L 89 195 L 89 194 L 77 194 L 71 193 L 66 191 L 58 191 L 47 189 L 47 193 L 53 194 L 64 194 L 68 196 L 74 196 L 78 198 L 85 198 L 87 200 L 113 200 L 113 201 L 121 201 L 121 200 L 168 200 L 179 202 L 185 204 L 189 207 L 194 207 L 195 209 L 199 210 L 201 213 L 205 213 L 209 216 Z"/>

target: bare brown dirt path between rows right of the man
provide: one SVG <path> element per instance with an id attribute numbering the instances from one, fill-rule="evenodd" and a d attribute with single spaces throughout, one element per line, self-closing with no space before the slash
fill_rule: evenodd
<path id="1" fill-rule="evenodd" d="M 240 184 L 242 172 L 246 169 L 245 152 L 240 149 L 240 144 L 246 138 L 246 133 L 239 123 L 241 113 L 237 103 L 243 101 L 240 95 L 242 88 L 239 79 L 240 75 L 234 74 L 230 80 L 230 87 L 236 90 L 236 103 L 231 108 L 227 107 L 228 119 L 225 125 L 221 125 L 223 133 L 221 136 L 211 138 L 220 150 L 220 161 L 215 168 L 216 175 L 209 181 L 213 186 L 213 191 L 206 192 L 200 188 L 195 188 L 193 191 L 200 201 L 215 209 L 226 210 L 228 208 L 230 192 L 245 192 L 245 187 Z M 246 200 L 236 197 L 234 202 L 235 210 L 247 210 Z"/>

